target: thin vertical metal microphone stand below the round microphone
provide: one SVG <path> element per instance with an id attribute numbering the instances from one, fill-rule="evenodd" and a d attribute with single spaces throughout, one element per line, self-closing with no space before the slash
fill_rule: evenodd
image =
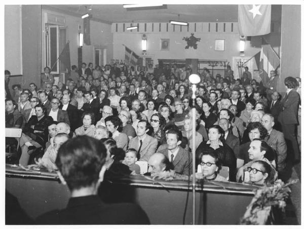
<path id="1" fill-rule="evenodd" d="M 193 205 L 192 205 L 192 212 L 193 212 L 193 225 L 195 225 L 195 187 L 196 187 L 196 180 L 195 180 L 195 134 L 196 134 L 196 109 L 195 109 L 195 99 L 196 99 L 196 85 L 192 85 L 192 194 L 193 194 Z"/>

